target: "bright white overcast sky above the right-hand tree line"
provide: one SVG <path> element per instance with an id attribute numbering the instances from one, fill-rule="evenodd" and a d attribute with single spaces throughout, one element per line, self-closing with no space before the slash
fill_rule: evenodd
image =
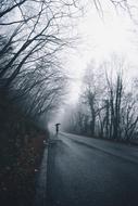
<path id="1" fill-rule="evenodd" d="M 84 72 L 91 60 L 101 63 L 112 53 L 116 53 L 130 64 L 138 65 L 138 43 L 133 33 L 136 25 L 134 27 L 127 12 L 120 10 L 117 13 L 110 3 L 103 4 L 103 17 L 100 18 L 96 8 L 89 7 L 78 22 L 76 31 L 80 40 L 76 51 L 71 51 L 70 55 L 67 53 L 65 63 L 68 74 L 74 79 L 71 87 L 71 103 L 77 101 Z"/>

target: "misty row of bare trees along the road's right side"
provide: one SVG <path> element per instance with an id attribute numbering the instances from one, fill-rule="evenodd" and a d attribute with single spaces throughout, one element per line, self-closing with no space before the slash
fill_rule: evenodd
<path id="1" fill-rule="evenodd" d="M 126 69 L 116 57 L 99 67 L 89 65 L 79 103 L 65 124 L 67 131 L 114 140 L 138 138 L 138 81 L 128 80 Z"/>

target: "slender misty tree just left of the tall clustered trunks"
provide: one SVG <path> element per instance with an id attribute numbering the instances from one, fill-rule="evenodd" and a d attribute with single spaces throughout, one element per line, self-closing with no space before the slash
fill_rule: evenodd
<path id="1" fill-rule="evenodd" d="M 99 69 L 99 72 L 98 72 Z M 96 134 L 96 121 L 100 117 L 102 110 L 102 94 L 104 92 L 104 85 L 102 79 L 103 73 L 92 63 L 88 66 L 84 78 L 84 103 L 89 107 L 90 111 L 90 130 L 91 136 Z"/>

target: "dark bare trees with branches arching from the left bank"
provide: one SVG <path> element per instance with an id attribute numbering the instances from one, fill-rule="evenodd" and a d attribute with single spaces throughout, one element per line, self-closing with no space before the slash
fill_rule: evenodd
<path id="1" fill-rule="evenodd" d="M 24 102 L 26 114 L 40 116 L 62 100 L 66 77 L 60 51 L 68 46 L 64 25 L 77 5 L 74 0 L 0 2 L 0 87 Z"/>

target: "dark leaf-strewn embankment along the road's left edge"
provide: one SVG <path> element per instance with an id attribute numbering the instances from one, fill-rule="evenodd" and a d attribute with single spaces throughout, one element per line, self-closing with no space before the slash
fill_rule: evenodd
<path id="1" fill-rule="evenodd" d="M 48 132 L 0 99 L 0 205 L 33 206 Z"/>

